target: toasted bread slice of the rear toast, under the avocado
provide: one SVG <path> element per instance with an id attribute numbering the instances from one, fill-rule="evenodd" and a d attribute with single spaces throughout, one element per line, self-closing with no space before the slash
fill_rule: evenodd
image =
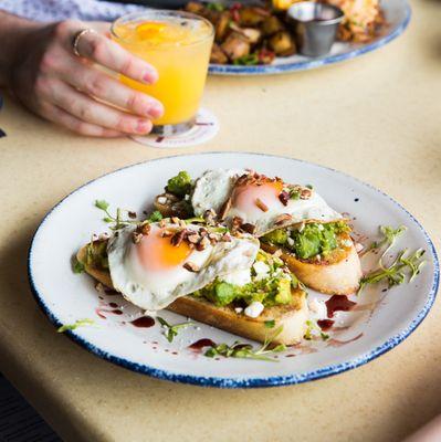
<path id="1" fill-rule="evenodd" d="M 349 235 L 347 235 L 349 239 Z M 286 249 L 261 243 L 265 252 L 282 251 L 281 259 L 307 287 L 328 295 L 348 295 L 358 290 L 361 278 L 361 264 L 353 241 L 348 248 L 339 249 L 328 260 L 298 260 Z"/>

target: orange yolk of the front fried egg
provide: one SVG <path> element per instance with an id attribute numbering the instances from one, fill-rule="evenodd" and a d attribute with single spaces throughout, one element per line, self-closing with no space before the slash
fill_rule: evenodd
<path id="1" fill-rule="evenodd" d="M 143 267 L 147 271 L 164 271 L 183 264 L 191 254 L 187 241 L 172 245 L 171 236 L 161 236 L 164 229 L 150 232 L 137 244 L 137 253 Z"/>

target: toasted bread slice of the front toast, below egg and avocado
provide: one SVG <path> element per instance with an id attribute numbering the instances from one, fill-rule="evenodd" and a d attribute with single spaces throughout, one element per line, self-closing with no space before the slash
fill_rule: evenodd
<path id="1" fill-rule="evenodd" d="M 76 254 L 77 260 L 82 263 L 86 259 L 86 248 L 87 245 L 83 246 Z M 113 288 L 111 274 L 107 271 L 92 265 L 85 265 L 85 271 L 96 281 Z M 273 339 L 272 344 L 293 345 L 300 343 L 306 332 L 308 309 L 304 291 L 292 288 L 291 293 L 291 304 L 266 307 L 256 318 L 240 315 L 233 307 L 218 307 L 204 298 L 191 295 L 176 299 L 167 309 L 260 343 L 271 336 L 272 329 L 282 326 L 282 332 Z M 267 320 L 275 322 L 274 328 L 266 327 L 265 322 Z"/>

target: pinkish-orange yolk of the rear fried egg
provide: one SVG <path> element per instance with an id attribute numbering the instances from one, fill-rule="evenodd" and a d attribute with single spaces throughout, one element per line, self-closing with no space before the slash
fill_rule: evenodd
<path id="1" fill-rule="evenodd" d="M 280 209 L 283 208 L 279 199 L 282 190 L 283 183 L 280 181 L 267 181 L 261 186 L 256 183 L 239 186 L 233 191 L 232 206 L 244 213 L 264 212 L 261 203 L 267 210 Z"/>

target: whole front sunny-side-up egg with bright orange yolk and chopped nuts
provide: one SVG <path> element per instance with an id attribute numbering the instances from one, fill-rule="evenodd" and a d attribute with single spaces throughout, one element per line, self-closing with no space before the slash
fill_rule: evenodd
<path id="1" fill-rule="evenodd" d="M 146 234 L 138 234 L 136 225 L 119 230 L 107 246 L 114 287 L 133 304 L 157 311 L 217 276 L 251 269 L 259 251 L 258 240 L 214 234 L 216 241 L 207 238 L 203 248 L 196 248 L 188 238 L 201 239 L 201 229 L 196 224 L 182 228 L 151 223 Z M 182 231 L 187 239 L 179 240 Z"/>

